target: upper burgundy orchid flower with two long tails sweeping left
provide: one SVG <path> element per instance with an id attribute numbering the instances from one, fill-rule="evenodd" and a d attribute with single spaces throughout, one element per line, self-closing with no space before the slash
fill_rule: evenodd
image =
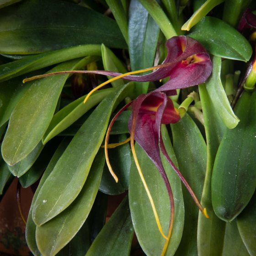
<path id="1" fill-rule="evenodd" d="M 91 96 L 91 94 L 100 89 L 101 87 L 111 83 L 114 80 L 123 78 L 131 81 L 156 81 L 164 79 L 170 76 L 170 79 L 156 91 L 165 92 L 167 95 L 175 95 L 175 89 L 187 88 L 193 85 L 203 83 L 209 75 L 212 73 L 211 59 L 203 47 L 198 41 L 191 37 L 177 36 L 171 37 L 166 42 L 166 48 L 168 50 L 167 56 L 162 64 L 150 67 L 147 69 L 140 69 L 131 71 L 125 74 L 106 70 L 73 70 L 73 71 L 59 71 L 54 73 L 48 73 L 44 75 L 36 75 L 23 82 L 31 81 L 34 79 L 67 73 L 93 73 L 99 75 L 113 76 L 112 79 L 98 85 L 86 96 L 85 101 Z M 157 69 L 154 72 L 147 75 L 133 75 L 141 72 Z"/>

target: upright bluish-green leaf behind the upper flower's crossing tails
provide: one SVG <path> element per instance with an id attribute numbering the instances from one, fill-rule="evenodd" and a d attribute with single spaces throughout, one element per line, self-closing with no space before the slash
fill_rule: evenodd
<path id="1" fill-rule="evenodd" d="M 139 0 L 132 0 L 129 7 L 128 35 L 133 71 L 153 66 L 159 31 L 158 25 Z M 137 95 L 147 93 L 149 82 L 136 82 L 135 86 Z"/>

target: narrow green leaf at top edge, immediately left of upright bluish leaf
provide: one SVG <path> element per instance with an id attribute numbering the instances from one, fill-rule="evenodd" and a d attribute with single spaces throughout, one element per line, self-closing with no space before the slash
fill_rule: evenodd
<path id="1" fill-rule="evenodd" d="M 120 4 L 120 0 L 106 0 L 106 2 L 117 21 L 126 43 L 128 43 L 128 20 L 123 5 Z"/>

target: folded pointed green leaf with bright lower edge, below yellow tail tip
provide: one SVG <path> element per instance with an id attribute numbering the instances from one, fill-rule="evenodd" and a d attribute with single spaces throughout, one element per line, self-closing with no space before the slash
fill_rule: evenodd
<path id="1" fill-rule="evenodd" d="M 51 123 L 43 135 L 42 142 L 46 144 L 50 139 L 68 128 L 92 107 L 100 103 L 113 89 L 103 89 L 94 93 L 84 104 L 85 96 L 72 101 L 59 112 L 54 114 Z"/>

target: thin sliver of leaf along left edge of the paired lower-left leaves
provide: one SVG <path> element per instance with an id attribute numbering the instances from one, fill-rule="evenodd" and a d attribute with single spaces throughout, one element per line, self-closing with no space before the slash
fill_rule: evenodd
<path id="1" fill-rule="evenodd" d="M 36 224 L 33 222 L 32 219 L 32 209 L 33 209 L 33 205 L 36 201 L 38 192 L 40 191 L 41 187 L 43 186 L 44 181 L 46 181 L 47 177 L 49 176 L 49 174 L 51 173 L 51 171 L 53 171 L 54 166 L 56 165 L 57 161 L 59 160 L 59 158 L 61 157 L 61 155 L 63 154 L 63 152 L 65 151 L 66 147 L 68 146 L 70 142 L 70 139 L 64 139 L 61 144 L 59 145 L 58 149 L 56 150 L 56 152 L 54 153 L 52 159 L 50 160 L 45 172 L 43 173 L 43 176 L 39 182 L 39 185 L 37 187 L 37 190 L 34 194 L 34 197 L 32 199 L 32 203 L 30 206 L 30 210 L 28 213 L 28 217 L 27 217 L 27 224 L 26 224 L 26 241 L 27 241 L 27 245 L 30 249 L 30 251 L 32 251 L 33 255 L 35 256 L 41 256 L 41 253 L 38 251 L 37 248 L 37 243 L 35 240 L 36 237 Z"/>

